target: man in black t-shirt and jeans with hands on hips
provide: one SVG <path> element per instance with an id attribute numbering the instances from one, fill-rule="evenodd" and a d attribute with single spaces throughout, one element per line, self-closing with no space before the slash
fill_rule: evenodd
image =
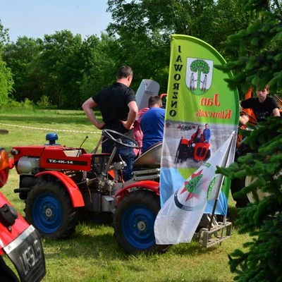
<path id="1" fill-rule="evenodd" d="M 135 92 L 129 88 L 133 79 L 133 71 L 129 66 L 121 66 L 118 69 L 116 82 L 109 87 L 104 88 L 93 97 L 87 99 L 82 105 L 87 118 L 98 129 L 111 129 L 118 133 L 128 135 L 133 138 L 133 123 L 138 113 L 138 107 L 135 100 Z M 94 107 L 99 107 L 103 123 L 99 123 L 94 111 Z M 125 141 L 123 142 L 130 142 Z M 102 152 L 111 153 L 114 149 L 113 142 L 106 141 L 102 143 Z M 123 170 L 123 179 L 129 180 L 133 171 L 133 161 L 135 154 L 132 148 L 119 147 L 116 155 L 120 154 L 127 166 Z"/>

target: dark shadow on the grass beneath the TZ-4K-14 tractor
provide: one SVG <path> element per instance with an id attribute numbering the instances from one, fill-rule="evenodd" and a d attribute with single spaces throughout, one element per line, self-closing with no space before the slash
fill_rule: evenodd
<path id="1" fill-rule="evenodd" d="M 231 209 L 231 214 L 236 214 L 236 209 Z M 98 258 L 101 256 L 107 259 L 129 260 L 132 257 L 153 257 L 154 253 L 128 254 L 118 245 L 118 241 L 114 237 L 114 228 L 112 227 L 112 214 L 93 215 L 87 212 L 80 212 L 79 224 L 75 233 L 66 240 L 44 239 L 44 247 L 47 247 L 46 258 L 55 257 L 85 257 Z M 171 245 L 168 248 L 169 253 L 179 257 L 194 257 L 213 253 L 217 245 L 213 247 L 203 247 L 197 240 L 188 243 L 180 243 Z M 59 250 L 51 251 L 48 250 Z M 162 254 L 164 255 L 164 254 Z M 157 255 L 158 256 L 158 255 Z"/>

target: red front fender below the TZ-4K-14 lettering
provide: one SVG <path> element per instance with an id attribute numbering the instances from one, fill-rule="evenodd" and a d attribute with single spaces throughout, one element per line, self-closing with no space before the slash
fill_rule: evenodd
<path id="1" fill-rule="evenodd" d="M 73 207 L 85 207 L 85 203 L 82 194 L 78 189 L 78 185 L 76 185 L 71 178 L 69 178 L 68 176 L 66 176 L 66 174 L 63 174 L 59 171 L 42 171 L 37 173 L 35 177 L 47 176 L 47 175 L 54 176 L 58 178 L 61 181 L 61 183 L 63 183 L 63 185 L 68 190 L 68 194 L 71 197 L 71 202 L 73 203 Z"/>

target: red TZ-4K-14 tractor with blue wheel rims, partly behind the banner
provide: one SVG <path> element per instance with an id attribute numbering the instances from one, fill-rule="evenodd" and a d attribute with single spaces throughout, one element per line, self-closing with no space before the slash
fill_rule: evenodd
<path id="1" fill-rule="evenodd" d="M 43 237 L 67 238 L 75 231 L 80 212 L 114 214 L 114 234 L 127 252 L 165 252 L 169 245 L 157 245 L 154 221 L 160 209 L 159 176 L 162 143 L 149 147 L 133 164 L 133 178 L 124 182 L 122 159 L 114 162 L 119 146 L 137 147 L 134 140 L 114 130 L 102 135 L 114 142 L 111 154 L 89 154 L 80 147 L 56 144 L 58 136 L 49 133 L 49 144 L 13 147 L 14 165 L 20 175 L 15 192 L 25 200 L 25 216 Z M 124 143 L 125 139 L 134 145 Z M 101 141 L 101 140 L 100 140 Z M 202 226 L 207 226 L 203 219 Z M 203 231 L 197 240 L 204 245 L 214 231 Z M 206 239 L 203 239 L 206 238 Z"/>

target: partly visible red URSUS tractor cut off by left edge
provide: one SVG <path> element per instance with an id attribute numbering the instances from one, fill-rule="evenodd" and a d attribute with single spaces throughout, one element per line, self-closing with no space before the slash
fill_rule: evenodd
<path id="1" fill-rule="evenodd" d="M 8 180 L 13 165 L 8 154 L 0 148 L 0 188 Z M 41 281 L 46 274 L 45 259 L 39 233 L 29 225 L 0 192 L 0 280 L 18 281 L 6 265 L 6 254 L 18 271 L 20 281 Z"/>

